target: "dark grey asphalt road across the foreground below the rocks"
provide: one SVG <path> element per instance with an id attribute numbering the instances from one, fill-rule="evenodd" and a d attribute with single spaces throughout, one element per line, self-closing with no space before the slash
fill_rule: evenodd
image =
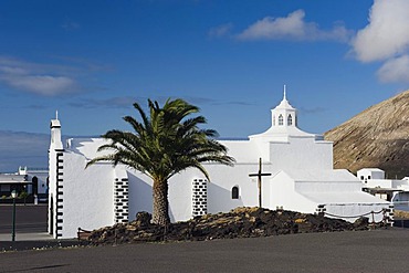
<path id="1" fill-rule="evenodd" d="M 409 231 L 0 253 L 0 272 L 408 272 Z"/>

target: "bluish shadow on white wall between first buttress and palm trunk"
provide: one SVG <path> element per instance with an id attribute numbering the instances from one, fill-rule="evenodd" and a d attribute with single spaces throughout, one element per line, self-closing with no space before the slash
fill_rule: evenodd
<path id="1" fill-rule="evenodd" d="M 136 213 L 139 211 L 147 211 L 151 213 L 153 188 L 151 185 L 141 180 L 133 172 L 127 172 L 129 187 L 129 221 L 133 221 L 136 218 Z"/>

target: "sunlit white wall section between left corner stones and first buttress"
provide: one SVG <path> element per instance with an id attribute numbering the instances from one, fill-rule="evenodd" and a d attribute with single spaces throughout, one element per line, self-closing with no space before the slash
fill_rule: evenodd
<path id="1" fill-rule="evenodd" d="M 76 237 L 77 228 L 114 223 L 114 169 L 107 164 L 85 169 L 85 164 L 83 156 L 64 153 L 63 238 Z"/>

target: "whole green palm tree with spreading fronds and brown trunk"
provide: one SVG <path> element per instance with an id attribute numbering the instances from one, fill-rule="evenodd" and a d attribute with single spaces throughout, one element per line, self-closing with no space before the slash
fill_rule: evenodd
<path id="1" fill-rule="evenodd" d="M 98 151 L 111 150 L 105 156 L 92 159 L 86 167 L 98 161 L 109 161 L 114 166 L 123 164 L 143 171 L 154 181 L 153 223 L 167 225 L 168 180 L 187 168 L 199 169 L 210 181 L 202 162 L 219 162 L 232 166 L 234 159 L 227 155 L 227 148 L 214 140 L 218 135 L 212 129 L 201 129 L 203 116 L 188 117 L 199 112 L 197 106 L 183 99 L 168 99 L 162 107 L 148 99 L 149 116 L 138 103 L 134 104 L 141 122 L 132 116 L 124 120 L 132 125 L 134 133 L 109 130 L 103 137 L 108 144 Z"/>

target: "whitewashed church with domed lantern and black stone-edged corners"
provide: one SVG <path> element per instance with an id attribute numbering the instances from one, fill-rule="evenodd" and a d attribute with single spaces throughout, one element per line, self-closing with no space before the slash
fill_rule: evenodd
<path id="1" fill-rule="evenodd" d="M 261 204 L 272 210 L 355 221 L 360 216 L 391 209 L 391 203 L 361 191 L 360 180 L 344 169 L 333 169 L 333 143 L 297 127 L 297 111 L 285 91 L 271 111 L 271 127 L 248 140 L 220 140 L 235 158 L 233 167 L 206 164 L 211 181 L 187 169 L 169 180 L 169 214 L 172 222 L 204 213 L 228 212 L 237 207 Z M 54 238 L 74 238 L 77 229 L 97 229 L 135 219 L 138 211 L 151 212 L 153 181 L 125 166 L 97 162 L 103 138 L 72 138 L 63 145 L 59 118 L 51 120 L 49 232 Z M 258 177 L 261 160 L 261 191 Z M 387 217 L 389 212 L 387 213 Z M 376 221 L 384 219 L 375 213 Z"/>

